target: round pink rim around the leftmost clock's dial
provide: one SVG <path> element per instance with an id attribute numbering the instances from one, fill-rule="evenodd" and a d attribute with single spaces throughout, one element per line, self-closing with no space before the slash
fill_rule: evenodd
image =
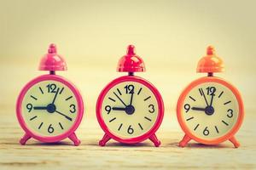
<path id="1" fill-rule="evenodd" d="M 78 110 L 78 116 L 77 116 L 76 120 L 73 122 L 72 127 L 70 127 L 66 132 L 61 133 L 56 136 L 43 136 L 43 135 L 33 132 L 29 127 L 26 126 L 26 122 L 22 116 L 21 105 L 22 105 L 22 101 L 23 101 L 27 91 L 30 88 L 32 88 L 32 86 L 34 86 L 38 82 L 50 81 L 50 80 L 56 81 L 56 82 L 61 82 L 61 83 L 65 84 L 68 88 L 70 88 L 70 90 L 73 92 L 73 94 L 75 95 L 75 98 L 78 101 L 79 110 Z M 38 139 L 39 141 L 46 142 L 46 143 L 58 142 L 58 141 L 61 141 L 62 139 L 68 138 L 79 127 L 79 124 L 82 121 L 83 116 L 84 116 L 84 101 L 83 101 L 82 95 L 79 93 L 79 89 L 76 88 L 73 85 L 73 83 L 68 81 L 66 78 L 61 77 L 59 75 L 42 75 L 42 76 L 32 79 L 32 81 L 30 81 L 30 82 L 27 82 L 25 87 L 22 88 L 22 90 L 20 91 L 19 97 L 16 102 L 16 116 L 20 123 L 20 127 L 22 127 L 22 129 L 25 131 L 25 133 L 30 135 L 32 138 Z"/>

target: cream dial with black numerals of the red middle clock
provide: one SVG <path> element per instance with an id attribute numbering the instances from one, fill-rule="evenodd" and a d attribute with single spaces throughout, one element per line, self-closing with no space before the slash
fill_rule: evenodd
<path id="1" fill-rule="evenodd" d="M 158 114 L 154 93 L 139 82 L 120 82 L 102 102 L 102 119 L 108 130 L 123 139 L 147 133 L 154 127 Z"/>

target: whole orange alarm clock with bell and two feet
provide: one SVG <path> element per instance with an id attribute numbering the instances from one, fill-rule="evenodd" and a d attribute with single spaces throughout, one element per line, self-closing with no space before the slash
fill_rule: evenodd
<path id="1" fill-rule="evenodd" d="M 241 127 L 244 107 L 239 91 L 213 73 L 223 72 L 224 62 L 212 46 L 198 65 L 197 72 L 206 72 L 185 88 L 177 101 L 177 120 L 185 133 L 179 146 L 194 139 L 201 144 L 219 144 L 230 140 L 237 148 L 235 134 Z"/>

